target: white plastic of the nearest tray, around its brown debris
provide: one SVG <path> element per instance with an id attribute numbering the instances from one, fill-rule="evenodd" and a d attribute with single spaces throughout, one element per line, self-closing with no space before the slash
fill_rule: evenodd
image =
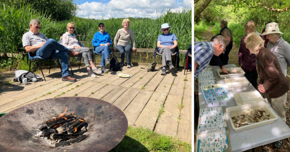
<path id="1" fill-rule="evenodd" d="M 263 108 L 263 110 L 265 110 L 267 114 L 270 114 L 269 120 L 264 120 L 264 121 L 257 122 L 254 124 L 249 124 L 249 125 L 241 126 L 239 128 L 235 128 L 232 121 L 233 116 L 250 113 L 251 111 L 258 110 L 261 108 Z M 250 111 L 248 111 L 248 109 Z M 270 124 L 278 119 L 278 116 L 271 110 L 271 108 L 265 102 L 258 102 L 258 103 L 246 104 L 242 106 L 230 107 L 226 109 L 226 112 L 229 116 L 231 126 L 235 132 L 242 132 L 248 129 L 256 128 L 261 125 Z"/>

